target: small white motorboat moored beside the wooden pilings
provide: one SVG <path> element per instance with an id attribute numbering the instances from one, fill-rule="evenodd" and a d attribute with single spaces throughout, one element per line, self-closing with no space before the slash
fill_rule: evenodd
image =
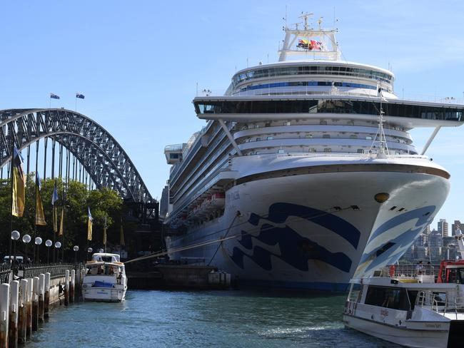
<path id="1" fill-rule="evenodd" d="M 119 255 L 98 252 L 86 262 L 82 283 L 84 301 L 121 302 L 126 298 L 127 277 Z"/>

